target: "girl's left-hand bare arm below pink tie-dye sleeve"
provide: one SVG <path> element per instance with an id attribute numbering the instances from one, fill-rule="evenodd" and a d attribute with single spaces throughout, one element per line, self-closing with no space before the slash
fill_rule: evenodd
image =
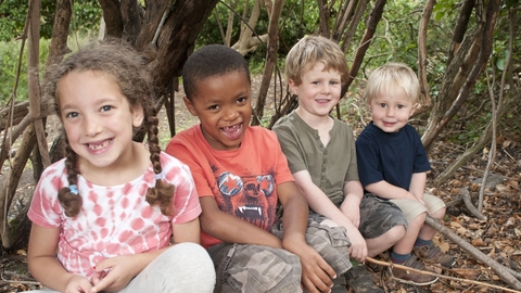
<path id="1" fill-rule="evenodd" d="M 33 277 L 46 286 L 60 292 L 88 292 L 89 280 L 65 270 L 56 258 L 60 228 L 33 225 L 27 253 L 28 268 Z"/>

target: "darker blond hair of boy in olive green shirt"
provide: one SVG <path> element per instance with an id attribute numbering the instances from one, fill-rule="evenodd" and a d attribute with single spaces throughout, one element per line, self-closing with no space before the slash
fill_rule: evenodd
<path id="1" fill-rule="evenodd" d="M 346 81 L 350 67 L 344 52 L 336 42 L 321 36 L 305 36 L 291 48 L 285 58 L 287 79 L 301 85 L 302 76 L 318 62 L 323 63 L 325 71 L 338 71 L 342 82 Z"/>

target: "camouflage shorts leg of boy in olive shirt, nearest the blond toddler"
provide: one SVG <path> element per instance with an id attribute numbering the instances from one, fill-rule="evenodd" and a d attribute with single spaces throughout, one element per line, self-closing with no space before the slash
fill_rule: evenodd
<path id="1" fill-rule="evenodd" d="M 407 219 L 397 205 L 371 193 L 364 195 L 358 230 L 365 239 L 378 238 L 398 225 L 407 228 Z"/>

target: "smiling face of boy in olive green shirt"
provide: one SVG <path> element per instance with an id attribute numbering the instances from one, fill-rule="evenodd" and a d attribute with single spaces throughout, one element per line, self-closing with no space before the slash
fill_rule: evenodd
<path id="1" fill-rule="evenodd" d="M 318 62 L 302 76 L 296 85 L 289 80 L 290 90 L 298 95 L 298 107 L 314 116 L 328 116 L 339 103 L 342 92 L 342 77 L 335 69 L 323 71 L 325 64 Z"/>

